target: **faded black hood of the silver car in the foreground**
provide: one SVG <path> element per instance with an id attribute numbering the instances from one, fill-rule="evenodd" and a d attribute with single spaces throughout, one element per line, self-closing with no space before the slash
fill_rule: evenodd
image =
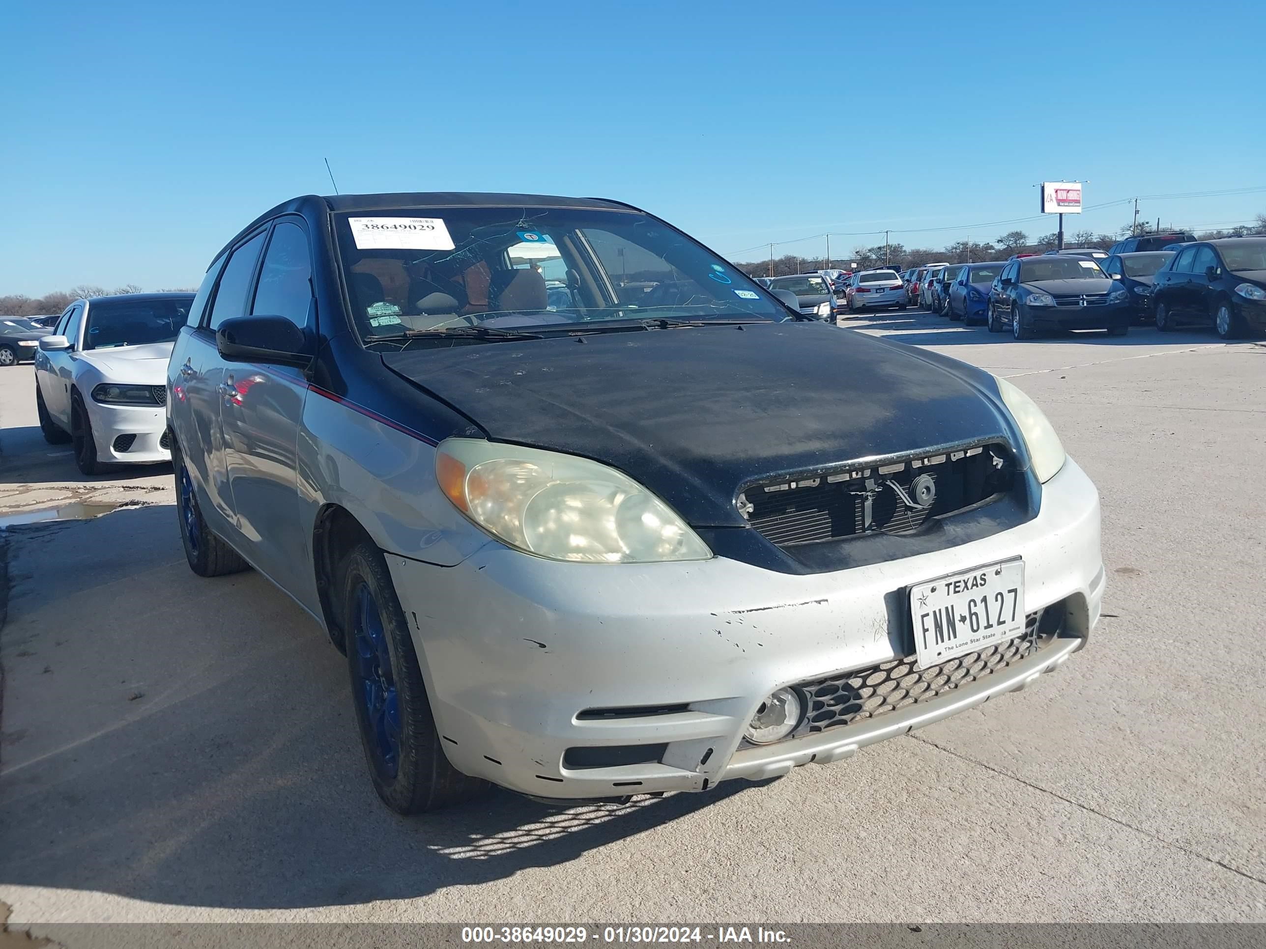
<path id="1" fill-rule="evenodd" d="M 695 526 L 746 525 L 734 499 L 770 475 L 976 439 L 1015 445 L 987 373 L 820 323 L 458 345 L 382 361 L 491 439 L 614 466 Z"/>

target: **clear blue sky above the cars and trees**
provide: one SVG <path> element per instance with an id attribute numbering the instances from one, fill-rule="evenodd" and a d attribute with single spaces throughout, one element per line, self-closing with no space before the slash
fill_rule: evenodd
<path id="1" fill-rule="evenodd" d="M 1266 8 L 1142 6 L 9 0 L 0 294 L 195 285 L 257 214 L 329 194 L 324 157 L 344 194 L 615 197 L 727 254 L 1047 233 L 958 226 L 1031 216 L 1042 180 L 1087 205 L 1266 189 Z"/>

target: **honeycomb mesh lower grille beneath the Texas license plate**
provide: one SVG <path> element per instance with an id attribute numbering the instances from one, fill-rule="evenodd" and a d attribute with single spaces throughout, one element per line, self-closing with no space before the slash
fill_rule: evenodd
<path id="1" fill-rule="evenodd" d="M 1062 624 L 1063 609 L 1062 605 L 1056 605 L 1028 614 L 1022 635 L 927 669 L 915 668 L 917 658 L 908 655 L 865 669 L 801 682 L 795 688 L 808 701 L 808 711 L 804 723 L 791 736 L 842 728 L 908 705 L 928 702 L 1031 655 L 1050 642 Z"/>

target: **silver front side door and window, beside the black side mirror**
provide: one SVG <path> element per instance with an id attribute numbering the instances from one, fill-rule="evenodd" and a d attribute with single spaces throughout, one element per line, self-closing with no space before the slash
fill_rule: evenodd
<path id="1" fill-rule="evenodd" d="M 249 313 L 285 316 L 315 338 L 311 252 L 299 216 L 280 218 L 260 267 Z M 299 424 L 308 380 L 290 366 L 224 363 L 220 423 L 224 466 L 244 549 L 256 568 L 286 590 L 311 586 L 299 529 Z"/>

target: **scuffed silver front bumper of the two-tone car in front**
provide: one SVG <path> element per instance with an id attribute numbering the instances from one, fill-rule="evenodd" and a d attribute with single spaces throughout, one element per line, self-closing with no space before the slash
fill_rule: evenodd
<path id="1" fill-rule="evenodd" d="M 496 543 L 456 567 L 399 555 L 387 564 L 460 771 L 555 798 L 704 791 L 848 757 L 1057 668 L 1099 619 L 1099 516 L 1094 485 L 1069 459 L 1043 486 L 1038 516 L 1018 528 L 836 573 L 790 576 L 724 558 L 566 564 Z M 772 745 L 742 744 L 775 688 L 912 652 L 906 586 L 1017 555 L 1025 610 L 1066 610 L 1061 638 L 1047 648 L 925 704 Z M 568 749 L 638 745 L 662 753 L 610 767 L 565 762 Z"/>

